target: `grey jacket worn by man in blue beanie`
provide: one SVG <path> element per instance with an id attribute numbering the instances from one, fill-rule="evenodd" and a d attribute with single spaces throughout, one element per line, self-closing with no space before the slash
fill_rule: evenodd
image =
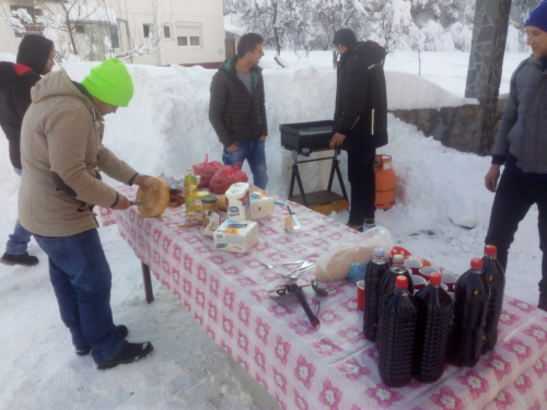
<path id="1" fill-rule="evenodd" d="M 547 69 L 534 56 L 511 78 L 492 163 L 503 164 L 510 154 L 524 173 L 547 174 Z"/>

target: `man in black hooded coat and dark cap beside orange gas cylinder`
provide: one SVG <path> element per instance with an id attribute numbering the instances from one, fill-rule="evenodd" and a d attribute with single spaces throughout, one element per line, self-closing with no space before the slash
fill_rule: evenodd
<path id="1" fill-rule="evenodd" d="M 348 152 L 351 210 L 348 225 L 362 232 L 373 227 L 375 199 L 374 159 L 387 144 L 387 97 L 383 62 L 385 49 L 374 42 L 358 42 L 349 28 L 335 33 L 340 54 L 331 148 Z"/>

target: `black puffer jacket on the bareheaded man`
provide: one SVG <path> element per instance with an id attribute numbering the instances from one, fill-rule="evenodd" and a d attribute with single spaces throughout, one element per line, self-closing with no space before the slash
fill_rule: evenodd
<path id="1" fill-rule="evenodd" d="M 263 70 L 259 67 L 251 69 L 252 97 L 237 78 L 236 60 L 237 56 L 233 56 L 224 61 L 211 82 L 209 120 L 224 147 L 268 134 Z"/>

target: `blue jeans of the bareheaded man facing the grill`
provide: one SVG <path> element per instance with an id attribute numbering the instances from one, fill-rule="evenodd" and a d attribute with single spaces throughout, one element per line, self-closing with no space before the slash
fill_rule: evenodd
<path id="1" fill-rule="evenodd" d="M 242 167 L 245 160 L 248 161 L 248 166 L 253 173 L 253 184 L 258 188 L 266 189 L 268 184 L 268 169 L 266 168 L 266 141 L 260 139 L 252 141 L 235 141 L 238 149 L 235 151 L 228 151 L 224 148 L 222 153 L 222 162 L 224 165 L 234 166 L 241 162 Z"/>

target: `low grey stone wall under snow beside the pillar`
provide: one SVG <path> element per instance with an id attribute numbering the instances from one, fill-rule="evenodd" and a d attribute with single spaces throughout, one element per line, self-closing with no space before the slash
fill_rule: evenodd
<path id="1" fill-rule="evenodd" d="M 494 130 L 489 138 L 486 152 L 479 144 L 482 115 L 482 107 L 479 104 L 437 109 L 395 109 L 391 113 L 400 120 L 415 125 L 427 137 L 433 137 L 441 141 L 444 147 L 462 152 L 488 155 L 493 149 L 507 98 L 507 94 L 499 97 L 494 114 Z"/>

